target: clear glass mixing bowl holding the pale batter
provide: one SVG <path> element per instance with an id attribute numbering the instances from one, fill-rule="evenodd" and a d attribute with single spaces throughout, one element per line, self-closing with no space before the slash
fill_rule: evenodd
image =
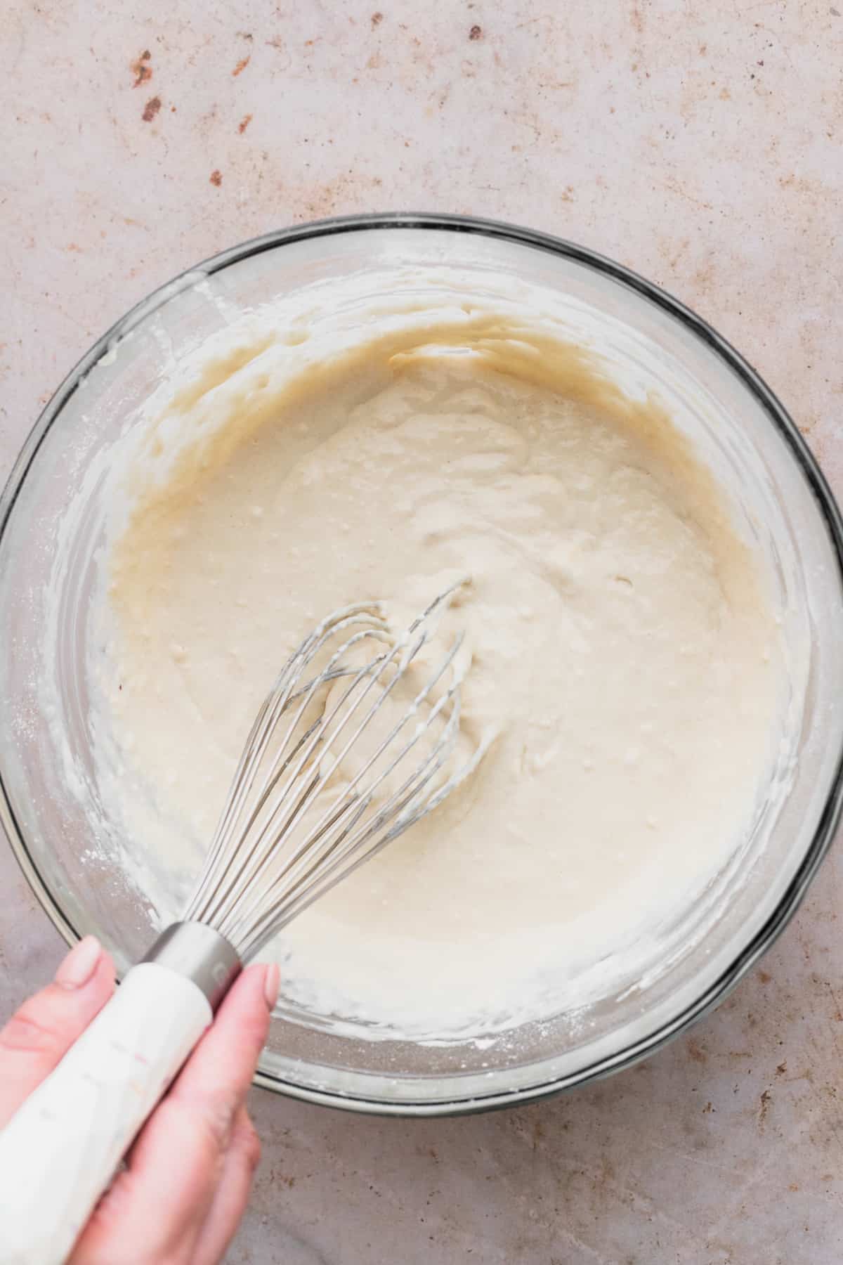
<path id="1" fill-rule="evenodd" d="M 840 810 L 843 535 L 799 431 L 749 366 L 681 304 L 581 247 L 458 216 L 382 215 L 273 233 L 216 256 L 133 309 L 77 364 L 0 501 L 0 818 L 68 941 L 97 934 L 124 970 L 154 935 L 144 894 L 97 846 L 109 824 L 85 677 L 104 509 L 94 459 L 130 425 L 164 367 L 244 309 L 404 264 L 455 264 L 479 287 L 489 277 L 543 286 L 599 329 L 621 381 L 657 387 L 766 559 L 782 635 L 804 668 L 779 735 L 776 786 L 752 836 L 634 987 L 483 1049 L 353 1039 L 325 1017 L 279 1007 L 262 1085 L 354 1109 L 435 1114 L 523 1102 L 641 1059 L 720 1001 L 791 917 Z M 85 512 L 68 531 L 80 497 Z M 58 611 L 53 634 L 48 606 Z M 52 708 L 40 691 L 47 673 L 59 682 Z"/>

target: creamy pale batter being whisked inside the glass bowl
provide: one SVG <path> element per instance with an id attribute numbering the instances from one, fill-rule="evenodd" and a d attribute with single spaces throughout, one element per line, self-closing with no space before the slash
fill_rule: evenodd
<path id="1" fill-rule="evenodd" d="M 554 1013 L 741 842 L 782 672 L 756 559 L 657 404 L 538 319 L 264 314 L 162 388 L 142 436 L 106 689 L 162 921 L 303 634 L 361 598 L 401 620 L 465 573 L 464 724 L 500 736 L 278 941 L 288 999 L 416 1037 Z"/>

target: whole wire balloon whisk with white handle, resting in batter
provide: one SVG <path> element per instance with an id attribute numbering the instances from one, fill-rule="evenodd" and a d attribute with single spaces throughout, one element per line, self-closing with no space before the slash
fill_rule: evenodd
<path id="1" fill-rule="evenodd" d="M 243 963 L 476 768 L 489 740 L 460 729 L 463 635 L 432 653 L 461 587 L 403 632 L 377 602 L 346 606 L 287 662 L 182 921 L 0 1133 L 4 1261 L 64 1260 Z"/>

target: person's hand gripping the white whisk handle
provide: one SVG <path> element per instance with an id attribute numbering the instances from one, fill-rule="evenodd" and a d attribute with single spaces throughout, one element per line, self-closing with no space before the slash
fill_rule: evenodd
<path id="1" fill-rule="evenodd" d="M 94 936 L 0 1031 L 0 1128 L 114 992 Z M 135 1138 L 70 1265 L 217 1265 L 245 1209 L 260 1144 L 245 1108 L 278 996 L 278 968 L 249 966 Z"/>

